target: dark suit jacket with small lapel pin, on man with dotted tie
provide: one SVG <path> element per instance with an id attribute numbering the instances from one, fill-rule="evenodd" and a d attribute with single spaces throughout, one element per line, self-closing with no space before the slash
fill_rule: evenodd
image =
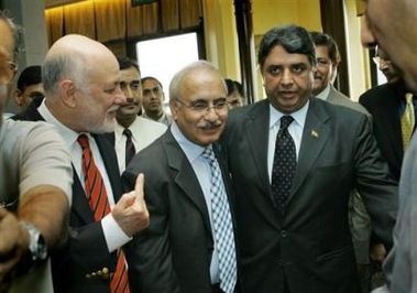
<path id="1" fill-rule="evenodd" d="M 223 143 L 233 178 L 243 292 L 358 293 L 348 223 L 356 187 L 388 248 L 397 186 L 365 115 L 310 98 L 286 213 L 275 209 L 267 171 L 270 102 L 230 112 Z"/>

